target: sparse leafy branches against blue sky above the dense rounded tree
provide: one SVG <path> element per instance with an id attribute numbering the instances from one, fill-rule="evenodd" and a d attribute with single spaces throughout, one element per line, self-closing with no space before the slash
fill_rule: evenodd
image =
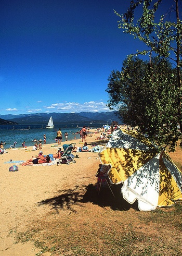
<path id="1" fill-rule="evenodd" d="M 174 4 L 174 1 L 171 2 Z M 121 18 L 118 21 L 118 27 L 148 46 L 148 50 L 141 51 L 140 54 L 146 55 L 146 53 L 153 51 L 162 57 L 171 57 L 171 54 L 175 54 L 177 58 L 177 44 L 180 45 L 182 41 L 182 22 L 179 19 L 177 22 L 165 20 L 166 17 L 164 15 L 161 15 L 159 21 L 155 21 L 157 19 L 155 13 L 161 3 L 162 0 L 156 2 L 152 0 L 132 1 L 126 13 L 123 15 L 115 11 L 115 14 Z M 135 10 L 140 5 L 142 5 L 142 15 L 137 19 L 135 18 Z"/>

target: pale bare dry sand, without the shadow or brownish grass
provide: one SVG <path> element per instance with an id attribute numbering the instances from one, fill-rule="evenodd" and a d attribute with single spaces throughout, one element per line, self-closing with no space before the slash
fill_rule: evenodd
<path id="1" fill-rule="evenodd" d="M 96 130 L 94 130 L 96 132 Z M 100 133 L 94 133 L 93 137 L 87 136 L 89 149 L 91 144 L 97 142 L 96 138 Z M 81 146 L 80 140 L 68 141 L 76 142 Z M 99 140 L 99 142 L 101 142 Z M 106 145 L 106 140 L 103 144 Z M 66 142 L 62 142 L 64 144 Z M 43 153 L 53 154 L 57 152 L 57 147 L 53 144 L 43 145 Z M 15 243 L 16 234 L 24 231 L 25 226 L 34 218 L 41 217 L 49 211 L 48 207 L 39 207 L 38 202 L 54 197 L 60 190 L 75 187 L 76 184 L 96 183 L 95 173 L 99 168 L 100 161 L 97 153 L 82 152 L 79 154 L 76 163 L 70 165 L 51 166 L 21 166 L 17 163 L 5 163 L 12 161 L 25 161 L 37 154 L 32 151 L 32 147 L 27 149 L 10 149 L 7 153 L 0 155 L 1 167 L 1 208 L 0 208 L 0 255 L 3 256 L 35 256 L 38 249 L 31 242 Z M 88 158 L 89 157 L 89 158 Z M 90 158 L 91 157 L 91 158 Z M 18 172 L 9 172 L 11 165 L 18 165 Z M 50 253 L 45 253 L 48 256 Z"/>

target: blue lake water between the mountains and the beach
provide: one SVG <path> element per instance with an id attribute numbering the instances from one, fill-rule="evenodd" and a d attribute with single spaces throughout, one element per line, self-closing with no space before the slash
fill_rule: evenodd
<path id="1" fill-rule="evenodd" d="M 79 126 L 79 125 L 78 125 Z M 80 139 L 80 134 L 76 133 L 79 132 L 83 126 L 74 127 L 72 125 L 68 126 L 67 128 L 55 125 L 53 129 L 45 129 L 43 128 L 45 125 L 0 125 L 0 142 L 6 141 L 5 147 L 8 149 L 10 145 L 12 145 L 15 141 L 17 141 L 16 147 L 21 148 L 22 142 L 25 141 L 25 145 L 27 147 L 30 147 L 34 145 L 33 140 L 42 140 L 42 144 L 44 143 L 44 134 L 46 135 L 46 143 L 52 144 L 56 143 L 56 136 L 57 136 L 57 130 L 61 128 L 62 132 L 62 142 L 66 141 L 64 138 L 64 133 L 68 132 L 68 140 L 73 140 L 74 136 L 76 136 L 76 139 Z M 95 124 L 94 127 L 90 128 L 98 128 L 102 127 L 101 124 Z M 30 129 L 29 129 L 30 128 Z"/>

